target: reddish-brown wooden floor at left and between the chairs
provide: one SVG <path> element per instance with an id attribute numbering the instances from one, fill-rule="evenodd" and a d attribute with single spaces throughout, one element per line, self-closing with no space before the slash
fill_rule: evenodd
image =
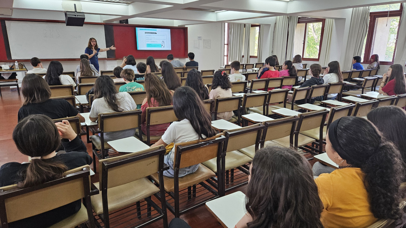
<path id="1" fill-rule="evenodd" d="M 2 121 L 0 124 L 0 166 L 7 162 L 27 162 L 27 156 L 23 155 L 17 150 L 15 146 L 12 134 L 13 129 L 17 124 L 17 113 L 22 105 L 23 97 L 19 97 L 17 91 L 10 91 L 9 87 L 1 87 L 2 97 L 0 98 L 0 116 Z M 91 144 L 86 143 L 86 136 L 82 136 L 82 140 L 85 142 L 87 151 L 89 155 L 92 156 Z M 311 162 L 313 163 L 313 162 Z M 93 168 L 93 165 L 91 165 Z M 97 174 L 96 174 L 97 175 Z M 98 181 L 98 177 L 92 177 L 92 181 Z M 235 191 L 246 192 L 246 185 L 236 189 Z M 232 191 L 232 192 L 235 192 Z M 229 192 L 231 193 L 231 192 Z M 228 193 L 228 194 L 229 194 Z M 173 214 L 168 211 L 168 222 L 173 219 Z M 207 209 L 202 206 L 188 213 L 180 216 L 184 219 L 191 227 L 205 227 L 205 228 L 221 228 L 222 226 L 213 217 Z M 158 228 L 162 227 L 162 219 L 155 222 L 148 228 Z"/>

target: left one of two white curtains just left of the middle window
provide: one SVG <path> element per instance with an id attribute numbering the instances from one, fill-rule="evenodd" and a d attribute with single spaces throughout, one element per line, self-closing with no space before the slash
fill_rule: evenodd
<path id="1" fill-rule="evenodd" d="M 287 27 L 289 19 L 287 16 L 276 17 L 274 30 L 274 42 L 272 43 L 272 55 L 278 56 L 279 63 L 286 59 Z"/>

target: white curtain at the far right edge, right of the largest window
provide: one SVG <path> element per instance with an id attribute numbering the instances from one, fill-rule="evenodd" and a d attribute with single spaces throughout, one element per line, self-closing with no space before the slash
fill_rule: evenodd
<path id="1" fill-rule="evenodd" d="M 406 63 L 406 3 L 402 3 L 403 11 L 402 17 L 400 17 L 399 34 L 397 36 L 397 45 L 394 64 L 401 64 L 402 66 Z"/>

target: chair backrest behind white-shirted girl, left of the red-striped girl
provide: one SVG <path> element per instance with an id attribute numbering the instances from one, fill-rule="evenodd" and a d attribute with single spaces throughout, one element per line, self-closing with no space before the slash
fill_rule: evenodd
<path id="1" fill-rule="evenodd" d="M 140 125 L 141 125 L 140 109 L 132 111 L 123 111 L 119 113 L 99 114 L 99 129 L 102 132 L 114 132 L 127 130 L 131 128 L 138 128 L 138 126 Z M 103 136 L 103 134 L 100 134 L 100 136 Z"/>

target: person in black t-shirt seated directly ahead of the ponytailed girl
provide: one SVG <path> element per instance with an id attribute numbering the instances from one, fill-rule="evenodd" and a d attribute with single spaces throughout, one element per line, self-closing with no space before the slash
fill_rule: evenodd
<path id="1" fill-rule="evenodd" d="M 84 122 L 78 110 L 63 99 L 50 99 L 51 89 L 48 83 L 37 74 L 27 74 L 21 86 L 24 96 L 23 106 L 18 111 L 18 121 L 32 114 L 43 114 L 51 119 L 78 116 Z"/>

